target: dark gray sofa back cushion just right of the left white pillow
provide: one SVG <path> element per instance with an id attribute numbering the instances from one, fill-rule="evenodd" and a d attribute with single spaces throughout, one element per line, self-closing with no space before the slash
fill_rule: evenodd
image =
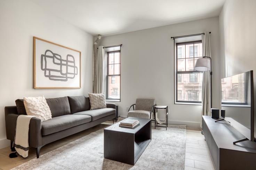
<path id="1" fill-rule="evenodd" d="M 49 98 L 46 102 L 51 110 L 51 117 L 70 114 L 69 99 L 67 97 Z"/>

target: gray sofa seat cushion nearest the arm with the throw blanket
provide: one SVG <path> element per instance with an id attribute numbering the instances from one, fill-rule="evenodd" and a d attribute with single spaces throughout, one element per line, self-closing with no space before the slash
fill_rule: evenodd
<path id="1" fill-rule="evenodd" d="M 42 135 L 49 135 L 55 132 L 85 124 L 91 121 L 88 115 L 63 115 L 53 117 L 45 122 L 42 122 Z"/>

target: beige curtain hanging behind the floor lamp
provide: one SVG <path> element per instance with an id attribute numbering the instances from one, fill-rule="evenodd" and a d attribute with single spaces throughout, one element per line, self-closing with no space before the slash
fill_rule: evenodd
<path id="1" fill-rule="evenodd" d="M 211 57 L 210 48 L 210 37 L 209 31 L 205 31 L 205 35 L 202 34 L 202 47 L 203 56 Z M 210 60 L 210 59 L 208 59 Z M 202 115 L 210 115 L 211 107 L 211 89 L 210 89 L 210 71 L 203 72 L 203 82 L 202 82 Z M 200 129 L 202 129 L 202 116 L 200 121 Z"/>

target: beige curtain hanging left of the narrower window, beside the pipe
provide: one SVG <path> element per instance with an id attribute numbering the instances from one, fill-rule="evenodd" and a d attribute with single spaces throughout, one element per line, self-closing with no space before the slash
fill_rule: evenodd
<path id="1" fill-rule="evenodd" d="M 104 75 L 104 48 L 98 47 L 98 56 L 96 60 L 96 91 L 95 93 L 103 93 L 103 75 Z"/>

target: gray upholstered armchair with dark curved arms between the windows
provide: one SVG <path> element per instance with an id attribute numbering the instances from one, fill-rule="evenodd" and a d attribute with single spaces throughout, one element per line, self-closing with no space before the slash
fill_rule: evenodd
<path id="1" fill-rule="evenodd" d="M 154 106 L 155 99 L 136 99 L 136 104 L 130 106 L 127 117 L 151 119 L 151 115 L 154 112 Z M 133 107 L 133 110 L 130 110 L 131 107 Z"/>

